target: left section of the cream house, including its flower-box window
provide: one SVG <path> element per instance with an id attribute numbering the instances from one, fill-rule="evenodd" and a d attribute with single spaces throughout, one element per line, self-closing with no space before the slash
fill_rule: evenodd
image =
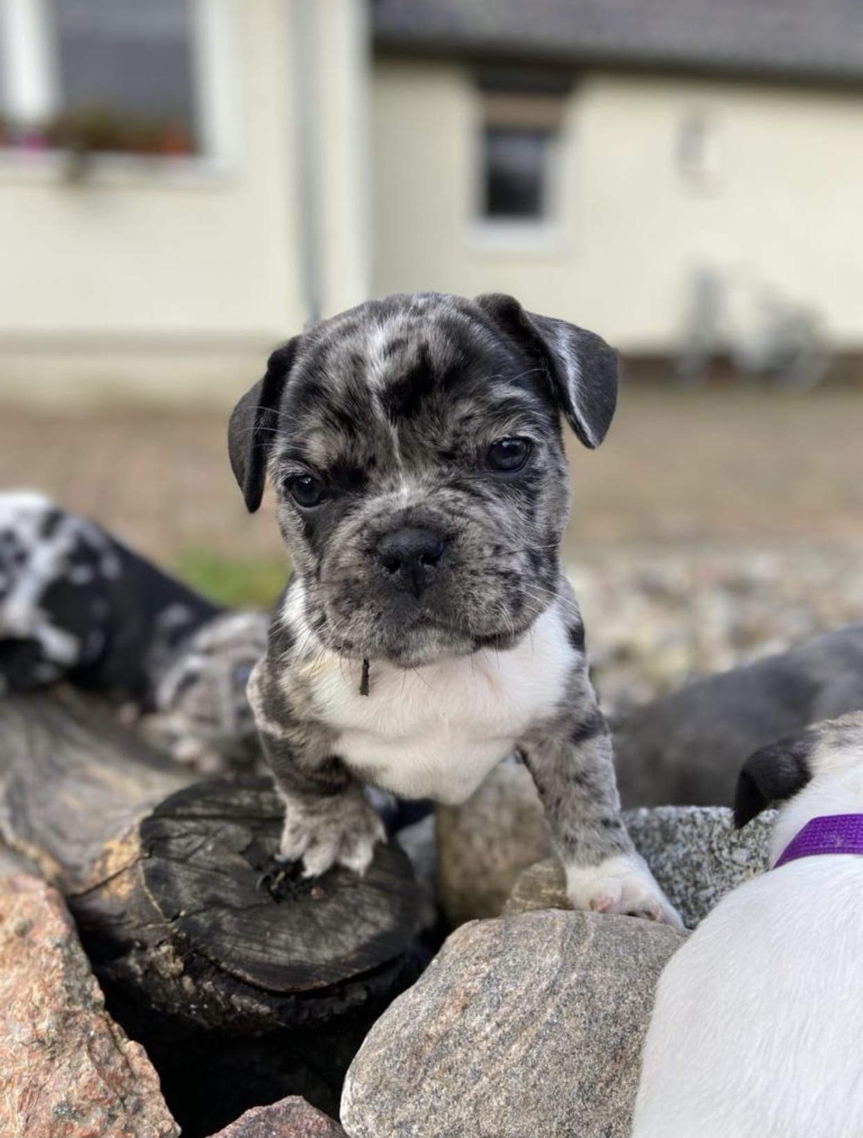
<path id="1" fill-rule="evenodd" d="M 222 399 L 367 290 L 359 0 L 0 0 L 0 393 Z"/>

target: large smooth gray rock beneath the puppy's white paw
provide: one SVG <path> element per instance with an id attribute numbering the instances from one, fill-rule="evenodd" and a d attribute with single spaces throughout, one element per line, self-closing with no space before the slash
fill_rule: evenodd
<path id="1" fill-rule="evenodd" d="M 524 913 L 464 925 L 348 1071 L 350 1138 L 625 1138 L 664 925 Z"/>

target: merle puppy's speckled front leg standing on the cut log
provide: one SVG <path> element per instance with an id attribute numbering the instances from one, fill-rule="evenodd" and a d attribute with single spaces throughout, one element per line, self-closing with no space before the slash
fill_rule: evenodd
<path id="1" fill-rule="evenodd" d="M 287 861 L 301 858 L 306 877 L 317 877 L 333 865 L 362 874 L 376 842 L 385 841 L 383 823 L 360 783 L 327 753 L 325 735 L 294 720 L 283 695 L 273 699 L 273 686 L 266 661 L 256 665 L 248 692 L 267 765 L 284 802 L 280 856 Z"/>

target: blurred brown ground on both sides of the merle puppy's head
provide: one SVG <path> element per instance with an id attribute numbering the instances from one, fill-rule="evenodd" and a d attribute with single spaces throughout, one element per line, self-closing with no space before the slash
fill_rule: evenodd
<path id="1" fill-rule="evenodd" d="M 284 564 L 272 521 L 244 513 L 224 412 L 0 414 L 0 488 L 44 490 L 227 599 Z M 863 538 L 863 390 L 624 389 L 607 442 L 572 442 L 567 560 Z M 262 568 L 263 567 L 263 568 Z M 230 570 L 230 571 L 229 571 Z M 227 572 L 237 582 L 221 582 Z M 219 583 L 221 582 L 221 583 Z M 248 588 L 246 587 L 248 583 Z M 238 594 L 238 595 L 235 595 Z"/>

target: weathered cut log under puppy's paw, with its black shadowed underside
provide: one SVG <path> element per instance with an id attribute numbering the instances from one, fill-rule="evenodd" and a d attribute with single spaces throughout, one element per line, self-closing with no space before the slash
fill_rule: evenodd
<path id="1" fill-rule="evenodd" d="M 185 1138 L 289 1094 L 332 1114 L 418 973 L 408 859 L 274 875 L 272 786 L 193 778 L 70 688 L 0 700 L 0 839 L 66 896 Z"/>

